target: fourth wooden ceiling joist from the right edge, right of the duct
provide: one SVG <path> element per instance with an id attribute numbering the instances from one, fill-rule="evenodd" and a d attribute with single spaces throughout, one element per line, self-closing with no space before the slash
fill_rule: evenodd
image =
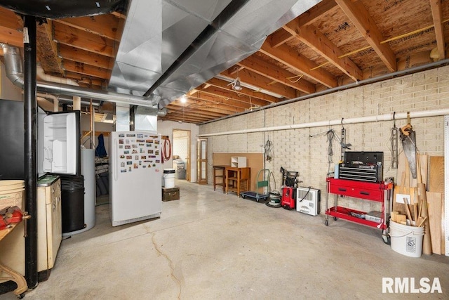
<path id="1" fill-rule="evenodd" d="M 337 79 L 332 74 L 323 70 L 323 68 L 315 69 L 318 65 L 313 61 L 305 58 L 300 53 L 297 53 L 293 48 L 283 44 L 279 47 L 273 48 L 269 43 L 269 38 L 264 42 L 260 48 L 260 52 L 273 58 L 274 60 L 283 63 L 287 67 L 291 67 L 297 72 L 301 72 L 307 77 L 318 81 L 319 83 L 333 88 L 337 86 Z"/>

